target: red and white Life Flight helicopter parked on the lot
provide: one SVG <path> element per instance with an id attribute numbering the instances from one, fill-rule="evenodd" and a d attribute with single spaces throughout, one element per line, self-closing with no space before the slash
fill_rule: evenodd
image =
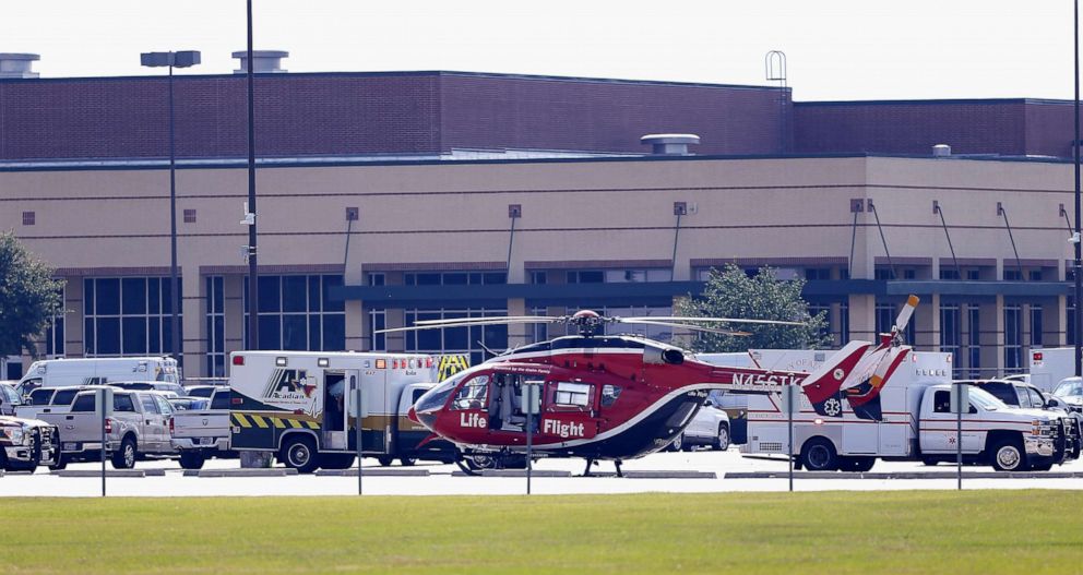
<path id="1" fill-rule="evenodd" d="M 709 392 L 781 393 L 799 385 L 817 412 L 842 416 L 842 402 L 855 412 L 879 416 L 879 394 L 908 347 L 898 334 L 917 298 L 911 297 L 891 334 L 878 346 L 850 342 L 812 373 L 718 367 L 679 347 L 629 335 L 603 335 L 607 324 L 647 324 L 690 331 L 740 334 L 702 323 L 790 324 L 726 318 L 605 318 L 593 311 L 574 315 L 473 318 L 421 321 L 402 332 L 513 323 L 567 324 L 579 335 L 510 349 L 443 381 L 418 398 L 409 418 L 433 438 L 456 444 L 467 463 L 523 459 L 526 416 L 523 391 L 538 385 L 540 410 L 533 418 L 534 453 L 617 463 L 656 452 L 674 441 L 706 400 Z M 874 409 L 873 409 L 874 408 Z M 874 417 L 879 419 L 879 417 Z M 477 464 L 480 466 L 480 464 Z"/>

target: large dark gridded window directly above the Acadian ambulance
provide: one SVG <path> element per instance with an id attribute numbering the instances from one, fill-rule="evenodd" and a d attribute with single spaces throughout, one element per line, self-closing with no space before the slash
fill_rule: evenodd
<path id="1" fill-rule="evenodd" d="M 341 275 L 259 276 L 260 349 L 342 351 L 346 348 L 346 308 L 332 300 Z M 245 347 L 248 348 L 248 278 L 245 278 Z"/>

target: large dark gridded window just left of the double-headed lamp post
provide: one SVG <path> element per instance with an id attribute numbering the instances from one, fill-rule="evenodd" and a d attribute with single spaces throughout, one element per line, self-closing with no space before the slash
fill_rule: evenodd
<path id="1" fill-rule="evenodd" d="M 178 288 L 183 281 L 178 278 Z M 83 280 L 83 342 L 87 357 L 172 352 L 172 294 L 165 277 Z M 183 297 L 183 292 L 180 294 Z M 181 340 L 183 321 L 178 310 Z"/>

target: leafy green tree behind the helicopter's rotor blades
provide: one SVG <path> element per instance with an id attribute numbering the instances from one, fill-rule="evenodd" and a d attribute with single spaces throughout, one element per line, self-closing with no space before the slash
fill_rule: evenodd
<path id="1" fill-rule="evenodd" d="M 698 352 L 746 351 L 748 349 L 816 349 L 831 345 L 828 314 L 809 313 L 801 298 L 805 279 L 782 280 L 771 267 L 761 267 L 749 277 L 743 269 L 728 264 L 723 271 L 711 269 L 703 296 L 681 299 L 675 314 L 699 318 L 742 320 L 782 320 L 802 325 L 704 324 L 751 333 L 735 336 L 697 333 L 691 348 Z"/>

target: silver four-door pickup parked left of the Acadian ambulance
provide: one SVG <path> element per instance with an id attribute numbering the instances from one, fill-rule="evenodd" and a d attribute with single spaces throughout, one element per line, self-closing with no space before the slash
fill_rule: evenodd
<path id="1" fill-rule="evenodd" d="M 66 412 L 40 414 L 38 419 L 60 430 L 60 462 L 93 459 L 102 451 L 102 421 L 94 409 L 96 390 L 79 392 Z M 117 469 L 131 469 L 142 455 L 176 455 L 169 442 L 169 402 L 156 392 L 117 390 L 112 414 L 106 419 L 106 452 Z"/>

